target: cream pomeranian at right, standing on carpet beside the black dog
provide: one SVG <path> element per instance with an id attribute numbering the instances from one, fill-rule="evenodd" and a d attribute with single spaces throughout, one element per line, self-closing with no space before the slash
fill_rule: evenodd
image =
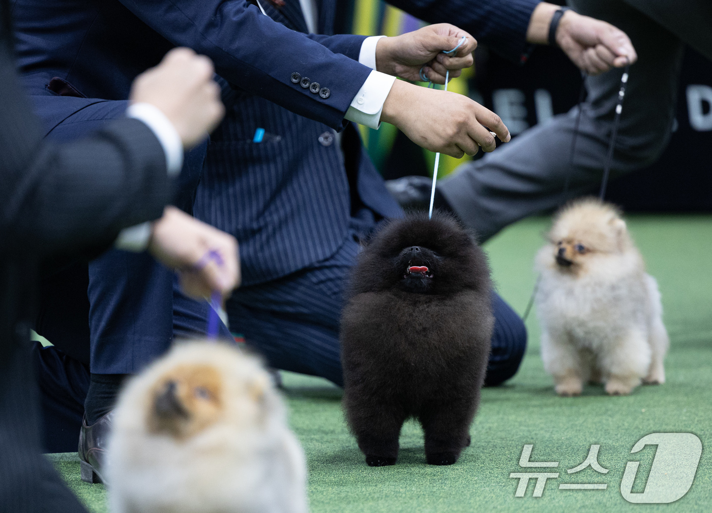
<path id="1" fill-rule="evenodd" d="M 658 285 L 619 211 L 575 201 L 557 213 L 548 239 L 536 257 L 536 305 L 556 392 L 576 396 L 584 381 L 604 383 L 611 395 L 641 380 L 664 383 L 669 340 Z"/>

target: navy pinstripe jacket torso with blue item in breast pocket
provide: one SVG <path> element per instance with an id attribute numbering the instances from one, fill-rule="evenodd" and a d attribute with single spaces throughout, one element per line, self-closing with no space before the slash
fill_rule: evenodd
<path id="1" fill-rule="evenodd" d="M 447 16 L 429 1 L 392 3 L 430 17 Z M 517 6 L 525 21 L 530 4 Z M 275 21 L 306 31 L 298 1 L 288 0 L 279 11 L 266 2 L 263 6 Z M 318 30 L 330 35 L 344 21 L 335 19 L 337 1 L 322 0 L 320 8 Z M 519 38 L 503 50 L 518 55 L 522 47 Z M 358 50 L 347 56 L 357 60 Z M 342 156 L 335 132 L 326 125 L 232 90 L 226 81 L 221 85 L 229 107 L 211 137 L 194 215 L 239 240 L 244 285 L 273 280 L 333 255 L 350 236 L 350 216 L 364 206 L 376 219 L 402 215 L 353 126 L 343 133 Z M 253 143 L 257 128 L 265 129 L 266 136 Z"/>

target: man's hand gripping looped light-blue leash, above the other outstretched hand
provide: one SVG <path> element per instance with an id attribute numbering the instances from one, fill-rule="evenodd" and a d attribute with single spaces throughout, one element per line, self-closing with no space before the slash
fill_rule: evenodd
<path id="1" fill-rule="evenodd" d="M 467 41 L 449 57 L 442 53 L 455 48 L 462 36 Z M 394 38 L 381 38 L 376 46 L 376 70 L 411 80 L 422 80 L 420 68 L 431 82 L 444 84 L 446 70 L 450 78 L 459 77 L 463 68 L 473 64 L 472 52 L 477 41 L 449 23 L 439 23 Z"/>

